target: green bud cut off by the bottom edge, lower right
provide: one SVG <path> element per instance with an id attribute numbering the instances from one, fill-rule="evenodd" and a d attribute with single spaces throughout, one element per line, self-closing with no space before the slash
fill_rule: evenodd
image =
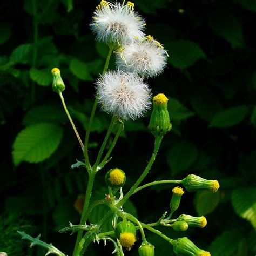
<path id="1" fill-rule="evenodd" d="M 199 249 L 187 237 L 178 238 L 173 242 L 173 251 L 175 254 L 184 256 L 211 256 L 210 252 Z"/>

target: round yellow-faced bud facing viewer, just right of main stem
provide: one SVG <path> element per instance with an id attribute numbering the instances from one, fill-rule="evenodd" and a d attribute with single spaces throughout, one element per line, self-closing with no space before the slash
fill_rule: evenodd
<path id="1" fill-rule="evenodd" d="M 120 188 L 125 184 L 125 173 L 118 168 L 110 169 L 105 176 L 107 186 L 111 188 Z"/>

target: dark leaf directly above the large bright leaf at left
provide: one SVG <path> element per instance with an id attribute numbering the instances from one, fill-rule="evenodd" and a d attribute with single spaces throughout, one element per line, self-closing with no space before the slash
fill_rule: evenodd
<path id="1" fill-rule="evenodd" d="M 41 105 L 32 107 L 22 120 L 23 125 L 38 123 L 58 123 L 68 122 L 65 111 L 60 105 Z"/>

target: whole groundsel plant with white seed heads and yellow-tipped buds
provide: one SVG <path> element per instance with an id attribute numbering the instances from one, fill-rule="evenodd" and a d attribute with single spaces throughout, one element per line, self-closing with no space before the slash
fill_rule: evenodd
<path id="1" fill-rule="evenodd" d="M 73 130 L 76 133 L 78 142 L 84 154 L 84 161 L 77 161 L 71 167 L 83 166 L 88 173 L 87 188 L 85 191 L 85 201 L 79 224 L 71 224 L 63 228 L 60 232 L 68 232 L 71 234 L 77 233 L 74 256 L 84 255 L 88 246 L 92 242 L 100 240 L 112 242 L 114 246 L 113 253 L 122 256 L 126 250 L 133 250 L 134 244 L 139 244 L 138 253 L 140 256 L 154 255 L 154 245 L 147 241 L 144 230 L 151 231 L 173 247 L 173 251 L 177 255 L 190 256 L 208 256 L 211 255 L 203 249 L 198 248 L 187 237 L 172 239 L 160 232 L 157 226 L 167 226 L 174 231 L 186 231 L 188 228 L 203 228 L 207 224 L 204 216 L 193 217 L 191 215 L 181 214 L 178 218 L 172 219 L 172 215 L 179 208 L 181 197 L 184 194 L 184 186 L 186 191 L 206 190 L 212 193 L 219 188 L 217 180 L 206 180 L 194 174 L 190 174 L 183 180 L 158 180 L 141 185 L 142 181 L 149 173 L 165 134 L 172 128 L 167 110 L 168 98 L 159 93 L 152 99 L 151 90 L 144 82 L 145 77 L 157 76 L 166 65 L 167 52 L 163 46 L 153 37 L 145 37 L 142 32 L 144 28 L 144 20 L 134 12 L 134 4 L 131 2 L 110 3 L 102 1 L 96 8 L 92 19 L 91 28 L 96 33 L 97 40 L 102 40 L 109 45 L 109 54 L 107 55 L 106 63 L 102 75 L 96 81 L 96 97 L 92 107 L 91 117 L 87 126 L 84 143 L 80 138 L 75 124 L 65 105 L 63 91 L 65 90 L 64 82 L 60 76 L 58 68 L 52 69 L 53 83 L 52 89 L 57 92 L 62 101 L 64 110 L 70 120 Z M 107 71 L 109 60 L 112 53 L 117 55 L 117 69 Z M 135 120 L 143 116 L 149 110 L 153 101 L 153 110 L 149 121 L 149 131 L 154 136 L 153 152 L 151 158 L 147 161 L 145 169 L 140 173 L 137 181 L 132 187 L 123 193 L 126 177 L 125 171 L 118 167 L 104 174 L 102 170 L 104 166 L 111 160 L 111 153 L 117 143 L 120 132 L 125 129 L 125 121 Z M 103 111 L 112 116 L 109 129 L 106 132 L 105 139 L 98 151 L 98 156 L 92 164 L 88 154 L 88 143 L 90 137 L 91 124 L 95 116 L 97 106 L 100 106 Z M 109 142 L 111 132 L 115 128 L 115 135 L 110 142 L 108 150 L 105 150 L 106 144 Z M 102 200 L 95 202 L 91 201 L 93 192 L 93 184 L 96 175 L 105 179 L 108 188 L 108 194 L 102 194 Z M 147 187 L 158 184 L 179 184 L 172 189 L 170 197 L 170 208 L 163 215 L 156 218 L 154 223 L 143 223 L 132 214 L 123 210 L 123 205 L 134 194 L 138 193 Z M 109 211 L 106 212 L 104 218 L 98 223 L 91 224 L 88 217 L 93 208 L 98 205 L 106 205 Z M 97 209 L 97 208 L 96 208 Z M 107 232 L 102 232 L 101 227 L 112 219 L 112 228 Z M 43 246 L 48 250 L 46 255 L 52 253 L 56 255 L 65 255 L 52 244 L 37 238 L 32 238 L 24 232 L 19 232 L 23 239 L 29 240 L 32 245 Z M 157 254 L 156 252 L 156 255 Z"/>

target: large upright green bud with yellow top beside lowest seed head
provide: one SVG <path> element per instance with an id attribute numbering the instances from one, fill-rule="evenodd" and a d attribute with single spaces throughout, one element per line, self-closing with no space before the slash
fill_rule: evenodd
<path id="1" fill-rule="evenodd" d="M 163 136 L 172 129 L 167 110 L 168 99 L 163 93 L 153 98 L 153 111 L 150 118 L 149 130 L 156 136 Z"/>

